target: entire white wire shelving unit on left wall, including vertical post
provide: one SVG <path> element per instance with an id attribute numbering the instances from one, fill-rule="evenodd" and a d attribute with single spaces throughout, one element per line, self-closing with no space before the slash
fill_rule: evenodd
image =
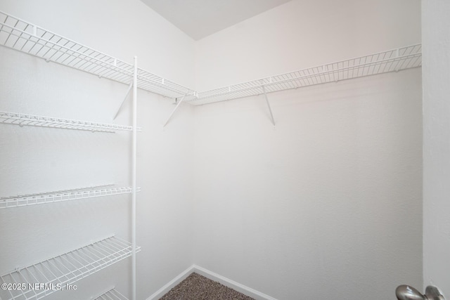
<path id="1" fill-rule="evenodd" d="M 146 91 L 158 93 L 161 96 L 178 98 L 187 95 L 193 95 L 193 91 L 184 88 L 179 84 L 169 81 L 151 72 L 147 72 L 137 68 L 137 60 L 134 59 L 134 64 L 125 63 L 122 60 L 108 56 L 101 51 L 96 51 L 93 48 L 79 44 L 76 41 L 72 41 L 59 34 L 53 33 L 49 30 L 45 30 L 42 27 L 33 25 L 30 22 L 16 18 L 13 15 L 0 11 L 0 45 L 13 50 L 27 53 L 31 56 L 44 59 L 46 62 L 58 63 L 66 67 L 71 67 L 75 70 L 80 70 L 89 74 L 94 74 L 100 78 L 106 78 L 113 81 L 120 82 L 122 84 L 129 85 L 129 91 L 133 87 L 133 126 L 121 126 L 115 124 L 103 124 L 94 122 L 84 122 L 71 119 L 59 119 L 53 117 L 42 117 L 35 115 L 24 115 L 13 112 L 0 112 L 0 123 L 3 124 L 16 124 L 20 126 L 44 126 L 60 129 L 77 129 L 86 131 L 101 131 L 101 132 L 116 132 L 116 131 L 131 131 L 132 137 L 132 157 L 134 170 L 132 171 L 132 188 L 122 189 L 109 189 L 109 190 L 96 190 L 91 192 L 89 197 L 100 197 L 102 195 L 116 195 L 119 193 L 131 193 L 132 198 L 132 230 L 131 230 L 131 243 L 127 244 L 127 247 L 117 248 L 115 244 L 124 243 L 120 240 L 116 240 L 115 237 L 111 237 L 108 240 L 97 242 L 87 247 L 77 249 L 74 252 L 63 254 L 54 259 L 49 259 L 42 263 L 30 266 L 28 268 L 16 270 L 13 273 L 1 276 L 1 282 L 26 282 L 32 280 L 32 282 L 47 282 L 53 284 L 72 282 L 84 277 L 87 273 L 94 273 L 101 268 L 109 266 L 111 263 L 123 259 L 124 257 L 132 257 L 132 298 L 135 299 L 135 285 L 136 285 L 136 252 L 140 250 L 136 247 L 136 224 L 135 224 L 135 209 L 136 209 L 136 193 L 139 188 L 136 187 L 136 131 L 141 131 L 141 128 L 136 125 L 136 90 L 138 87 Z M 73 193 L 68 193 L 72 195 Z M 89 193 L 75 193 L 76 197 L 82 199 Z M 37 204 L 46 202 L 56 202 L 59 200 L 69 200 L 70 195 L 34 195 L 31 198 L 21 199 L 18 197 L 6 199 L 7 205 L 13 206 L 27 204 Z M 86 196 L 87 197 L 87 196 Z M 44 198 L 44 199 L 42 199 Z M 72 200 L 72 199 L 70 199 Z M 4 202 L 2 202 L 4 203 Z M 115 243 L 115 244 L 110 244 Z M 108 247 L 111 249 L 119 249 L 118 252 L 108 252 Z M 114 248 L 115 247 L 115 248 Z M 92 249 L 91 249 L 92 248 Z M 86 253 L 84 253 L 86 252 Z M 101 256 L 105 253 L 105 257 Z M 94 256 L 89 256 L 93 254 Z M 87 255 L 84 257 L 83 255 Z M 98 258 L 98 260 L 96 260 Z M 73 259 L 73 261 L 72 261 Z M 77 260 L 79 259 L 79 260 Z M 84 261 L 86 265 L 80 261 Z M 58 263 L 62 263 L 59 265 Z M 64 263 L 68 263 L 65 265 Z M 56 268 L 56 269 L 53 269 Z M 49 271 L 49 273 L 46 273 Z M 65 272 L 68 273 L 65 273 Z M 34 274 L 33 272 L 36 272 Z M 24 275 L 25 274 L 25 275 Z M 27 278 L 29 276 L 30 278 Z M 75 279 L 74 279 L 75 278 Z M 37 279 L 39 279 L 37 281 Z M 10 292 L 8 298 L 6 296 L 0 296 L 0 299 L 41 299 L 50 294 L 52 291 L 37 291 L 31 289 L 29 291 Z"/>

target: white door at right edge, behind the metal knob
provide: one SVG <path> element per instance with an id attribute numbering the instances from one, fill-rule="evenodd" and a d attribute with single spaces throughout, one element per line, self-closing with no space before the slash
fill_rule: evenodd
<path id="1" fill-rule="evenodd" d="M 450 296 L 450 3 L 422 1 L 423 283 Z"/>

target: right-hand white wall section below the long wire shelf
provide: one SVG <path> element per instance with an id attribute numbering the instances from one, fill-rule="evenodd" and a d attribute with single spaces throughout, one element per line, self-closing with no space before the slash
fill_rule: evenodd
<path id="1" fill-rule="evenodd" d="M 195 264 L 276 299 L 422 285 L 420 70 L 195 110 Z M 367 291 L 376 291 L 367 294 Z"/>

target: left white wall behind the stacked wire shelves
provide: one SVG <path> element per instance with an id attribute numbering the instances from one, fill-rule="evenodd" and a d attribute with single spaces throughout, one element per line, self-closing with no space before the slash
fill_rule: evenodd
<path id="1" fill-rule="evenodd" d="M 141 1 L 0 1 L 0 10 L 170 79 L 192 84 L 193 41 Z M 117 23 L 119 22 L 119 23 Z M 119 26 L 120 24 L 120 26 Z M 137 29 L 139 36 L 133 32 Z M 114 34 L 118 34 L 119 38 Z M 151 37 L 151 38 L 148 38 Z M 0 47 L 0 110 L 113 122 L 127 86 Z M 165 130 L 171 100 L 139 91 L 138 299 L 192 264 L 192 107 Z M 129 100 L 116 124 L 131 124 Z M 0 126 L 0 197 L 130 180 L 131 133 Z M 0 210 L 0 274 L 110 234 L 130 239 L 131 197 Z M 77 282 L 90 299 L 116 285 L 128 296 L 131 259 Z"/>

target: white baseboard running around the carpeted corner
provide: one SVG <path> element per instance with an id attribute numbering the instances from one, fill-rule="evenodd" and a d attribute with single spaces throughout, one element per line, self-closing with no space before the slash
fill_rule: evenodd
<path id="1" fill-rule="evenodd" d="M 147 300 L 160 299 L 167 292 L 169 292 L 170 289 L 178 285 L 181 281 L 185 280 L 186 277 L 188 277 L 188 275 L 191 275 L 191 273 L 198 273 L 202 276 L 205 276 L 206 278 L 209 278 L 210 280 L 220 282 L 222 285 L 225 285 L 226 287 L 231 287 L 231 289 L 234 289 L 247 296 L 250 296 L 256 300 L 276 300 L 274 297 L 263 294 L 262 292 L 258 292 L 257 290 L 252 289 L 251 287 L 241 285 L 236 281 L 233 281 L 229 278 L 225 278 L 222 275 L 211 272 L 210 270 L 207 270 L 205 268 L 196 265 L 192 265 L 186 270 L 184 270 L 180 275 L 176 276 L 176 278 L 174 278 L 173 280 L 170 280 L 170 282 L 168 282 L 164 287 L 161 287 L 160 289 L 158 289 L 157 292 L 148 297 Z"/>

